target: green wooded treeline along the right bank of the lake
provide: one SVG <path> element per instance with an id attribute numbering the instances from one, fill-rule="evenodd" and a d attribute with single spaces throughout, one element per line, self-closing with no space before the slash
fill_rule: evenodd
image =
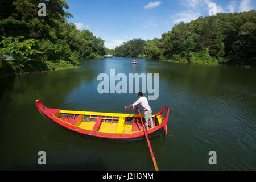
<path id="1" fill-rule="evenodd" d="M 218 13 L 175 24 L 162 38 L 134 39 L 114 49 L 114 55 L 182 63 L 256 65 L 256 11 Z"/>

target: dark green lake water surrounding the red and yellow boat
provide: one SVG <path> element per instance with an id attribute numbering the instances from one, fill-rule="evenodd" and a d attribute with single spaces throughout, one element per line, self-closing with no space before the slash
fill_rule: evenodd
<path id="1" fill-rule="evenodd" d="M 154 170 L 146 140 L 116 143 L 72 133 L 42 117 L 35 100 L 63 110 L 132 113 L 134 94 L 99 94 L 100 73 L 159 73 L 152 113 L 170 108 L 168 134 L 150 139 L 160 170 L 255 170 L 256 69 L 114 57 L 78 69 L 31 73 L 1 83 L 1 170 Z M 147 96 L 147 94 L 146 94 Z M 46 165 L 38 152 L 46 152 Z M 216 151 L 217 164 L 208 155 Z"/>

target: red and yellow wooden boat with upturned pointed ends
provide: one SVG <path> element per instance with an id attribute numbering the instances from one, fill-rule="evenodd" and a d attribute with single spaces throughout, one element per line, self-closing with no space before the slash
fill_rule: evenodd
<path id="1" fill-rule="evenodd" d="M 36 106 L 44 117 L 77 134 L 117 142 L 134 142 L 146 138 L 139 114 L 50 109 L 44 106 L 40 100 L 36 100 Z M 163 117 L 165 111 L 166 114 Z M 144 115 L 141 116 L 144 122 Z M 168 116 L 169 108 L 167 105 L 161 111 L 152 115 L 154 127 L 147 130 L 148 138 L 162 135 L 165 130 L 167 132 Z"/>

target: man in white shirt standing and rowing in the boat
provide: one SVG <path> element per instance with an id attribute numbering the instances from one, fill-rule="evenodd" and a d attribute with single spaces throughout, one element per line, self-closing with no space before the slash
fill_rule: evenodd
<path id="1" fill-rule="evenodd" d="M 154 127 L 153 120 L 152 120 L 152 110 L 151 110 L 151 108 L 148 104 L 147 97 L 143 97 L 143 93 L 139 92 L 138 93 L 138 98 L 139 99 L 136 102 L 134 102 L 134 104 L 131 104 L 129 106 L 125 106 L 125 109 L 127 109 L 128 107 L 131 107 L 131 106 L 134 107 L 135 105 L 141 104 L 142 107 L 143 107 L 143 110 L 144 110 L 147 129 L 148 129 L 148 119 L 150 120 L 151 128 Z"/>

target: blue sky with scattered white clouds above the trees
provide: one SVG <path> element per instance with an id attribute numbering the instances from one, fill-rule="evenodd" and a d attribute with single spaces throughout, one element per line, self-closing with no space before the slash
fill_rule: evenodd
<path id="1" fill-rule="evenodd" d="M 66 0 L 69 23 L 79 30 L 88 29 L 105 40 L 105 47 L 115 48 L 127 40 L 160 38 L 174 24 L 208 16 L 210 3 L 217 12 L 255 10 L 255 0 Z"/>

